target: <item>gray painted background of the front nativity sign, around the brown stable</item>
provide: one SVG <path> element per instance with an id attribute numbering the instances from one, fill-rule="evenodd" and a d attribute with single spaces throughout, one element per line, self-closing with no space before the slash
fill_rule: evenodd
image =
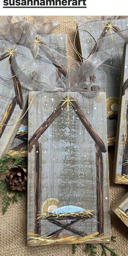
<path id="1" fill-rule="evenodd" d="M 29 93 L 29 102 L 35 94 L 36 92 Z M 36 96 L 29 108 L 28 140 L 66 96 L 67 93 L 62 92 L 42 92 Z M 96 98 L 91 99 L 75 92 L 70 93 L 70 96 L 76 100 L 107 148 L 105 93 L 100 92 Z M 65 108 L 38 140 L 42 145 L 42 193 L 41 202 L 39 203 L 43 205 L 45 200 L 55 198 L 60 201 L 61 206 L 74 205 L 94 210 L 94 219 L 79 221 L 73 225 L 73 228 L 91 234 L 97 231 L 95 142 L 71 106 L 69 107 L 69 115 L 69 126 L 67 126 L 67 108 Z M 34 233 L 35 228 L 34 148 L 28 153 L 28 233 Z M 102 153 L 102 155 L 104 169 L 104 233 L 110 235 L 107 152 Z M 58 229 L 59 227 L 46 220 L 41 221 L 41 235 L 52 233 Z M 71 235 L 72 233 L 63 231 L 61 234 Z M 35 243 L 35 245 L 37 244 Z"/>

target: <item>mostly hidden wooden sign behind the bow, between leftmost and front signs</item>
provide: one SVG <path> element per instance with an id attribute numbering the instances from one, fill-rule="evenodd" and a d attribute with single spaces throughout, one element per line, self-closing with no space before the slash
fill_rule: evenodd
<path id="1" fill-rule="evenodd" d="M 45 43 L 50 49 L 55 50 L 56 52 L 61 53 L 62 55 L 67 55 L 67 35 L 66 34 L 50 34 L 50 35 L 43 35 L 42 42 Z M 55 62 L 55 58 L 53 55 L 53 59 Z M 43 59 L 41 56 L 37 56 L 35 59 L 35 62 L 37 64 L 37 67 L 39 67 L 44 61 L 47 63 L 47 59 Z M 58 63 L 58 65 L 60 65 Z M 52 68 L 55 68 L 58 72 L 59 66 L 56 67 L 54 64 L 51 64 Z M 61 71 L 61 70 L 60 70 Z M 63 74 L 60 72 L 61 79 L 63 77 Z M 24 126 L 27 125 L 27 116 L 25 116 L 22 127 L 20 130 L 18 130 L 15 140 L 11 145 L 9 153 L 14 156 L 16 154 L 19 154 L 21 157 L 27 157 L 28 151 L 27 151 L 27 138 L 28 138 L 28 130 L 24 130 Z"/>

